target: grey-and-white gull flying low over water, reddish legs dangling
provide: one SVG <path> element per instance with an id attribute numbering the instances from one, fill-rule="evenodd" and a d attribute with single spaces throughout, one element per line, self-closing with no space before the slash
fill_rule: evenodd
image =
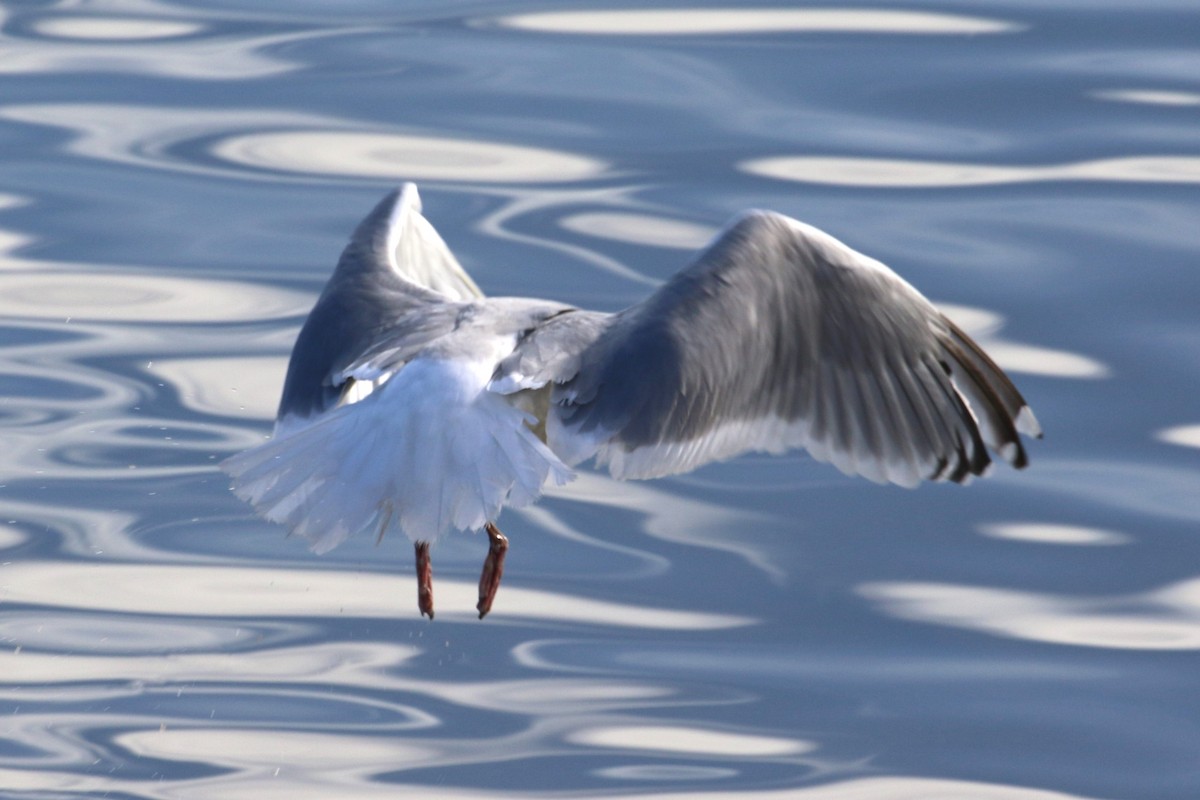
<path id="1" fill-rule="evenodd" d="M 484 529 L 476 610 L 508 552 L 500 510 L 593 459 L 617 479 L 803 447 L 847 475 L 967 482 L 1040 437 L 1000 367 L 899 275 L 770 211 L 736 217 L 618 313 L 485 297 L 406 184 L 359 224 L 300 330 L 275 431 L 222 463 L 234 493 L 323 553 Z"/>

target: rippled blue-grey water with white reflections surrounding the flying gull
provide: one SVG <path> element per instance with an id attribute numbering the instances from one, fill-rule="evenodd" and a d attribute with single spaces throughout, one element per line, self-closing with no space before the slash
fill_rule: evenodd
<path id="1" fill-rule="evenodd" d="M 1195 5 L 623 5 L 0 8 L 0 796 L 1200 795 Z M 311 555 L 215 467 L 407 179 L 485 290 L 602 309 L 796 216 L 1046 438 L 584 474 L 419 619 L 407 542 Z"/>

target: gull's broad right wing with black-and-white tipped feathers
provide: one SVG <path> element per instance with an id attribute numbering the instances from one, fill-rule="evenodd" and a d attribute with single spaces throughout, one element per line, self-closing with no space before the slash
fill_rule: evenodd
<path id="1" fill-rule="evenodd" d="M 965 481 L 1040 435 L 1004 373 L 883 264 L 781 215 L 737 219 L 614 317 L 553 392 L 550 445 L 618 477 L 805 447 L 847 474 Z"/>

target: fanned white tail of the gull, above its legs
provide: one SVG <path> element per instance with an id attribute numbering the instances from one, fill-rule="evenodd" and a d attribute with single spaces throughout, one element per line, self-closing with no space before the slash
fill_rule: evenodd
<path id="1" fill-rule="evenodd" d="M 234 492 L 325 552 L 362 530 L 478 530 L 571 471 L 486 391 L 493 365 L 418 359 L 361 401 L 229 458 Z"/>

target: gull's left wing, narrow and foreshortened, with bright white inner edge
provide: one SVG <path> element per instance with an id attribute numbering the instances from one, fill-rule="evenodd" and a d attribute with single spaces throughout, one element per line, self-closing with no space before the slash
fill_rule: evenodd
<path id="1" fill-rule="evenodd" d="M 277 426 L 336 405 L 353 387 L 347 367 L 380 339 L 402 361 L 454 329 L 457 303 L 481 296 L 421 216 L 416 186 L 391 192 L 359 224 L 300 329 Z"/>

